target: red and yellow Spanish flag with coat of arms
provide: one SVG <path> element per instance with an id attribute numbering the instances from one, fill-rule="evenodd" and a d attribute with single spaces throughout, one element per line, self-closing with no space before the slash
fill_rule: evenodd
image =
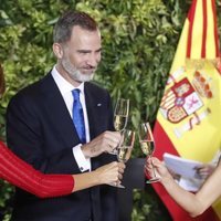
<path id="1" fill-rule="evenodd" d="M 154 128 L 155 156 L 209 162 L 221 147 L 221 57 L 214 0 L 193 0 L 185 21 Z M 152 185 L 175 221 L 221 220 L 221 201 L 190 218 L 160 183 Z M 215 190 L 211 190 L 215 191 Z"/>

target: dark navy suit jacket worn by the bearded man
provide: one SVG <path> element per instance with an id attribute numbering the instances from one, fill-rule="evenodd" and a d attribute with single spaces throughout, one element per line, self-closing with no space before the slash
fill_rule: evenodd
<path id="1" fill-rule="evenodd" d="M 85 83 L 85 99 L 91 139 L 113 130 L 109 94 Z M 45 173 L 81 172 L 72 152 L 80 139 L 51 73 L 11 99 L 7 110 L 7 138 L 17 155 Z M 103 154 L 92 158 L 92 168 L 113 160 L 115 156 Z M 109 186 L 53 199 L 39 199 L 17 189 L 14 203 L 14 221 L 85 221 L 91 214 L 94 221 L 117 220 L 116 188 Z"/>

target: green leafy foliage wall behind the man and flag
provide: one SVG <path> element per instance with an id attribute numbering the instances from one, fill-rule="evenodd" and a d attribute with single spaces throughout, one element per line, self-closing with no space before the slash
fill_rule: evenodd
<path id="1" fill-rule="evenodd" d="M 0 61 L 7 93 L 0 104 L 0 136 L 11 96 L 45 75 L 55 60 L 52 30 L 67 9 L 88 12 L 99 23 L 103 62 L 95 81 L 115 102 L 131 101 L 130 126 L 156 118 L 190 0 L 0 0 Z M 217 0 L 219 33 L 221 1 Z M 143 156 L 139 148 L 135 157 Z M 8 220 L 13 188 L 2 182 L 0 209 Z M 141 198 L 143 194 L 143 198 Z M 151 189 L 134 194 L 133 220 L 169 220 Z M 3 218 L 2 218 L 3 219 Z"/>

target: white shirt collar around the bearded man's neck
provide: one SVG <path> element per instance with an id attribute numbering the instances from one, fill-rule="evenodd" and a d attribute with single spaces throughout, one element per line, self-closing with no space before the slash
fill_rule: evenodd
<path id="1" fill-rule="evenodd" d="M 56 70 L 54 65 L 52 70 L 52 76 L 61 92 L 61 94 L 70 93 L 71 91 L 78 88 L 84 94 L 84 83 L 80 84 L 80 86 L 75 87 L 70 82 L 67 82 Z"/>

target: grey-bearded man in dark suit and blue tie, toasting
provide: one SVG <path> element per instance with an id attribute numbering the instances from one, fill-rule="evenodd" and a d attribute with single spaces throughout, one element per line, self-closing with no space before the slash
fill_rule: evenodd
<path id="1" fill-rule="evenodd" d="M 7 112 L 12 150 L 45 173 L 80 173 L 116 160 L 109 94 L 90 81 L 101 61 L 101 33 L 86 13 L 67 12 L 54 29 L 53 70 L 19 92 Z M 73 97 L 77 91 L 78 99 Z M 76 120 L 73 103 L 80 102 Z M 80 128 L 80 130 L 78 130 Z M 67 197 L 38 199 L 20 189 L 14 221 L 115 221 L 116 188 L 94 187 Z"/>

